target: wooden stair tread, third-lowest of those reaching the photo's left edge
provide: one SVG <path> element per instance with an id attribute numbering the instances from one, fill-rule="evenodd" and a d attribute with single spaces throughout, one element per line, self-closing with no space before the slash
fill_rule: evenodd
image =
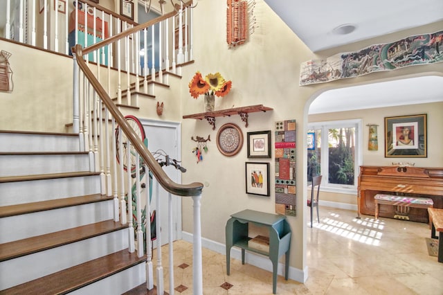
<path id="1" fill-rule="evenodd" d="M 39 211 L 52 210 L 57 208 L 64 208 L 70 206 L 77 206 L 82 204 L 89 204 L 95 202 L 108 201 L 113 199 L 111 196 L 93 194 L 79 197 L 66 197 L 62 199 L 51 199 L 42 202 L 33 202 L 25 204 L 17 204 L 0 207 L 0 217 L 8 217 L 20 214 L 35 213 Z"/>

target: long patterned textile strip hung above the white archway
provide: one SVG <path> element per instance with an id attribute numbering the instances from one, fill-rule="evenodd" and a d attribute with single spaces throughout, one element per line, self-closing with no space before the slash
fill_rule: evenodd
<path id="1" fill-rule="evenodd" d="M 372 45 L 360 51 L 339 53 L 326 60 L 309 60 L 300 65 L 299 84 L 325 83 L 436 62 L 443 62 L 443 30 Z"/>

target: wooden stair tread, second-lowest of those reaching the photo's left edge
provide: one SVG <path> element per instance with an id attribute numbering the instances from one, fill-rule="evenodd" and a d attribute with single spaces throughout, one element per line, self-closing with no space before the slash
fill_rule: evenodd
<path id="1" fill-rule="evenodd" d="M 45 235 L 0 244 L 0 261 L 60 247 L 125 228 L 127 228 L 127 224 L 120 224 L 120 222 L 114 222 L 114 220 L 105 220 L 95 224 L 87 224 L 73 229 L 46 233 Z"/>

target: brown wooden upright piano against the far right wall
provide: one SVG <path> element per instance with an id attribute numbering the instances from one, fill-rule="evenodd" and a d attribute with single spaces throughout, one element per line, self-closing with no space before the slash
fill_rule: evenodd
<path id="1" fill-rule="evenodd" d="M 433 199 L 434 208 L 443 208 L 443 168 L 411 166 L 360 166 L 359 213 L 374 215 L 374 195 L 408 195 Z M 379 215 L 393 218 L 394 206 L 380 205 Z M 410 208 L 409 220 L 428 222 L 426 209 Z"/>

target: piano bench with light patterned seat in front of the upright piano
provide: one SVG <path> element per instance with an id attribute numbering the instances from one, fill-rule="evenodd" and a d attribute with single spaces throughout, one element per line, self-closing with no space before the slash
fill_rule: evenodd
<path id="1" fill-rule="evenodd" d="M 427 197 L 410 197 L 386 194 L 374 195 L 374 203 L 374 215 L 376 220 L 379 218 L 379 204 L 397 206 L 397 211 L 394 218 L 402 220 L 409 220 L 408 213 L 410 207 L 426 209 L 434 206 L 433 200 Z"/>

